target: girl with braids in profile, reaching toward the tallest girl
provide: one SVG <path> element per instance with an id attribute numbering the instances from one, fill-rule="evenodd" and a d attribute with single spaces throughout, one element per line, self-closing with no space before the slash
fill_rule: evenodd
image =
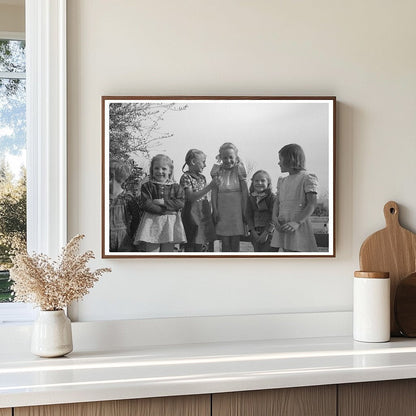
<path id="1" fill-rule="evenodd" d="M 212 221 L 209 192 L 216 186 L 213 179 L 208 185 L 202 174 L 206 164 L 206 155 L 198 149 L 191 149 L 185 156 L 182 167 L 184 174 L 180 184 L 185 191 L 185 208 L 182 211 L 182 221 L 186 232 L 187 243 L 185 251 L 208 251 L 214 242 L 215 227 Z M 184 169 L 187 168 L 186 171 Z"/>

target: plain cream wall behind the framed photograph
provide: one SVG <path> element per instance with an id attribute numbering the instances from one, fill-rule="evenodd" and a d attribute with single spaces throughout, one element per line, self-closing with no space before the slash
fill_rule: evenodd
<path id="1" fill-rule="evenodd" d="M 113 269 L 73 317 L 351 310 L 384 203 L 416 231 L 415 14 L 413 0 L 68 1 L 69 236 Z M 205 94 L 337 97 L 336 258 L 100 259 L 100 97 Z"/>

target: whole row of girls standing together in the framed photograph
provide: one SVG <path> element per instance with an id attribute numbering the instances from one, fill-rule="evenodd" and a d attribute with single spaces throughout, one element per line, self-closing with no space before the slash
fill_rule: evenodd
<path id="1" fill-rule="evenodd" d="M 207 183 L 206 155 L 191 149 L 180 182 L 173 180 L 173 161 L 156 155 L 139 198 L 123 188 L 129 165 L 110 164 L 110 251 L 239 252 L 240 238 L 250 234 L 255 252 L 313 252 L 317 246 L 310 216 L 317 203 L 318 179 L 305 169 L 301 146 L 279 150 L 279 177 L 272 192 L 270 175 L 258 170 L 247 186 L 247 173 L 233 143 L 224 143 Z"/>

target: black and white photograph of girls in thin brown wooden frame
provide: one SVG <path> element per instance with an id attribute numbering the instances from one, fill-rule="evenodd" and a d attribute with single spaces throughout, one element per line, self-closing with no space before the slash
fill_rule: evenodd
<path id="1" fill-rule="evenodd" d="M 335 97 L 102 97 L 103 257 L 334 257 Z"/>

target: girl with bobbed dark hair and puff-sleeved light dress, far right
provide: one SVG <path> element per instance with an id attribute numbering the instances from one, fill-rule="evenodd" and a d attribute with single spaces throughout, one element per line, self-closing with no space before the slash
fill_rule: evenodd
<path id="1" fill-rule="evenodd" d="M 275 231 L 271 246 L 283 251 L 318 251 L 310 216 L 316 208 L 318 178 L 305 169 L 305 153 L 298 144 L 279 150 L 282 173 L 273 208 Z"/>

